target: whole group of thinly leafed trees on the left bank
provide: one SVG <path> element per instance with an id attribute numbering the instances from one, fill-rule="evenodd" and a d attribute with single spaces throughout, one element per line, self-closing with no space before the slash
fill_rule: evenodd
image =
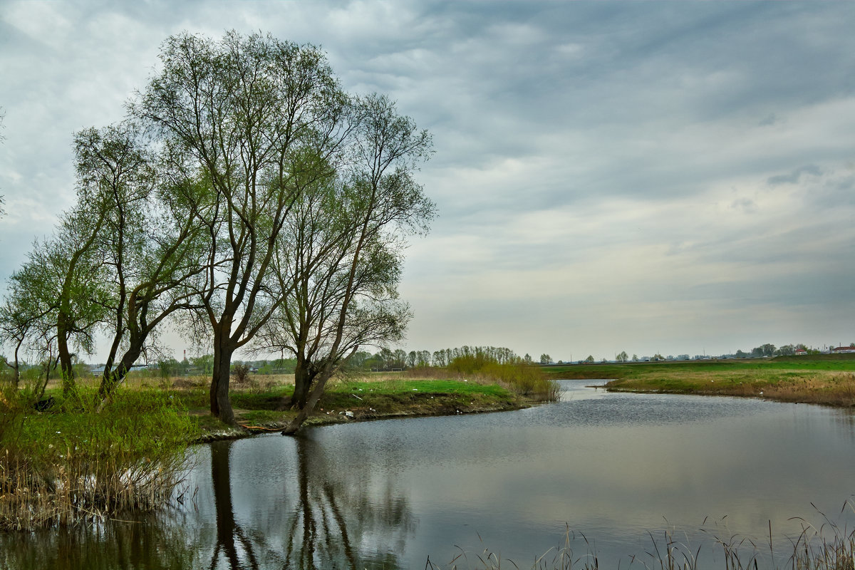
<path id="1" fill-rule="evenodd" d="M 213 352 L 210 410 L 232 423 L 235 350 L 296 361 L 298 429 L 360 346 L 402 338 L 405 238 L 434 205 L 428 132 L 345 93 L 311 45 L 182 33 L 121 123 L 74 138 L 77 201 L 9 283 L 0 335 L 55 362 L 110 338 L 104 402 L 168 322 Z M 17 371 L 15 368 L 15 378 Z"/>

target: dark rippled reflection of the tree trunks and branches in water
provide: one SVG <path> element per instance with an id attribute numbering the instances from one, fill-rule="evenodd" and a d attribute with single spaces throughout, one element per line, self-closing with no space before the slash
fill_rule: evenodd
<path id="1" fill-rule="evenodd" d="M 358 473 L 327 465 L 323 450 L 295 438 L 296 485 L 268 513 L 253 514 L 251 528 L 236 520 L 229 464 L 232 442 L 211 444 L 211 479 L 216 510 L 216 544 L 209 568 L 399 568 L 395 552 L 414 530 L 406 501 L 373 496 Z M 340 465 L 340 464 L 339 464 Z M 345 477 L 349 484 L 345 483 Z M 284 518 L 277 516 L 283 514 Z M 384 544 L 384 538 L 386 539 Z"/>

